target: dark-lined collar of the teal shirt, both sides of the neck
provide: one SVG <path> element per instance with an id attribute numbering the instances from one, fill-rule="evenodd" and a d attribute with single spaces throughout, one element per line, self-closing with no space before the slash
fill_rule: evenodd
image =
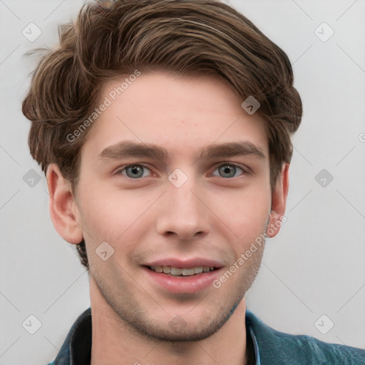
<path id="1" fill-rule="evenodd" d="M 250 317 L 253 314 L 246 311 L 246 327 L 247 335 L 251 336 L 255 348 L 255 365 L 261 365 L 259 356 L 259 345 L 252 328 Z M 90 365 L 91 363 L 91 340 L 92 340 L 92 324 L 91 324 L 91 308 L 86 309 L 76 322 L 72 325 L 68 335 L 61 346 L 56 359 L 52 365 Z"/>

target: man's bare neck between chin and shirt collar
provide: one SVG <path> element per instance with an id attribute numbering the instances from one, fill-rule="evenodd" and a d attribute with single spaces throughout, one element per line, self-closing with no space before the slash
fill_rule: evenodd
<path id="1" fill-rule="evenodd" d="M 207 339 L 161 341 L 136 331 L 121 319 L 90 281 L 91 365 L 247 364 L 245 298 L 225 324 Z"/>

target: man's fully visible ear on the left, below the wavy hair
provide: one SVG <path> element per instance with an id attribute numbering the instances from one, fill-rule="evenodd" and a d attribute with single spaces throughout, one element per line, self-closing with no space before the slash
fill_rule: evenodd
<path id="1" fill-rule="evenodd" d="M 83 240 L 81 227 L 76 222 L 77 207 L 73 204 L 71 183 L 63 178 L 56 163 L 48 165 L 47 185 L 49 212 L 58 235 L 69 243 L 78 244 Z"/>

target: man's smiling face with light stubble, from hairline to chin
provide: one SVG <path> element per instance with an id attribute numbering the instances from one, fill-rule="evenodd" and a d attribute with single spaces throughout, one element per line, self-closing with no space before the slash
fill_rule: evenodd
<path id="1" fill-rule="evenodd" d="M 113 101 L 123 79 L 106 84 L 101 102 L 112 103 L 81 154 L 75 203 L 91 285 L 138 331 L 203 339 L 225 323 L 262 259 L 264 245 L 213 285 L 267 227 L 264 123 L 217 78 L 142 74 Z M 241 144 L 237 155 L 230 143 Z M 150 145 L 166 155 L 142 153 Z M 106 261 L 96 254 L 102 242 L 114 250 Z M 166 273 L 150 269 L 163 266 Z M 214 270 L 200 273 L 206 267 Z"/>

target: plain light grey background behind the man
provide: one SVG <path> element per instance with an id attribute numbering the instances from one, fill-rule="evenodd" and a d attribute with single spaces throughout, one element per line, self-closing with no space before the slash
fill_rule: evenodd
<path id="1" fill-rule="evenodd" d="M 280 331 L 365 348 L 365 1 L 227 2 L 287 52 L 304 104 L 287 222 L 267 241 L 247 306 Z M 47 364 L 90 305 L 86 269 L 49 218 L 46 179 L 29 154 L 30 122 L 21 113 L 36 66 L 22 55 L 53 46 L 57 24 L 82 4 L 0 0 L 1 365 Z M 31 22 L 42 32 L 34 42 L 22 34 Z M 324 22 L 334 30 L 325 42 Z M 23 179 L 31 169 L 41 177 L 34 187 Z M 325 187 L 315 179 L 322 169 L 334 178 Z M 35 334 L 22 327 L 31 314 L 41 322 Z M 317 328 L 329 321 L 334 327 L 322 334 Z"/>

